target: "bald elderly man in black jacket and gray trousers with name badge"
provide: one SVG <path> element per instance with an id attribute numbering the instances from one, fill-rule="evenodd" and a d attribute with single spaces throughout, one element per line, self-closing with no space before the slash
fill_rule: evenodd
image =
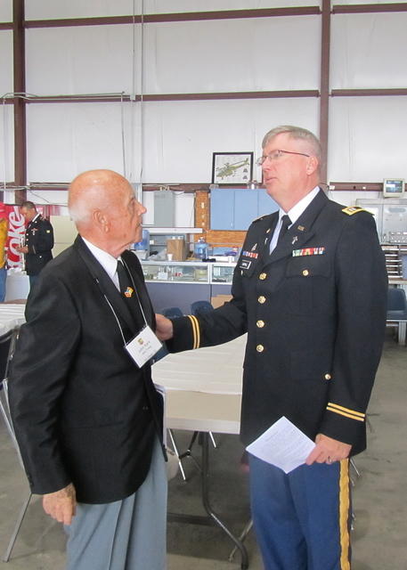
<path id="1" fill-rule="evenodd" d="M 142 239 L 145 208 L 123 176 L 94 170 L 70 184 L 69 211 L 79 235 L 41 272 L 12 362 L 22 459 L 32 492 L 66 525 L 69 570 L 163 570 L 167 478 L 150 367 L 159 343 L 126 250 Z M 148 354 L 130 354 L 134 335 Z"/>

